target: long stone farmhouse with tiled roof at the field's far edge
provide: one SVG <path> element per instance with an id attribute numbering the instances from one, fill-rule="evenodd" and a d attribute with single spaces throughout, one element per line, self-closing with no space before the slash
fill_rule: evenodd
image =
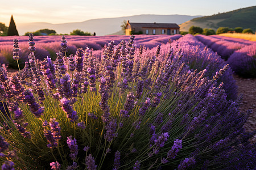
<path id="1" fill-rule="evenodd" d="M 130 23 L 127 21 L 125 35 L 175 35 L 180 33 L 180 27 L 171 23 Z"/>

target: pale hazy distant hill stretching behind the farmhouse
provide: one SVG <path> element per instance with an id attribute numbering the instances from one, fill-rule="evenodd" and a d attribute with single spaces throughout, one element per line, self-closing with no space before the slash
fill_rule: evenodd
<path id="1" fill-rule="evenodd" d="M 190 15 L 133 15 L 123 16 L 118 18 L 101 18 L 91 19 L 84 22 L 77 23 L 63 23 L 63 24 L 51 24 L 51 23 L 20 23 L 16 24 L 16 27 L 20 35 L 24 35 L 25 32 L 34 32 L 39 29 L 54 29 L 57 33 L 70 33 L 74 29 L 81 29 L 82 31 L 96 32 L 96 35 L 110 35 L 117 33 L 121 30 L 120 25 L 123 20 L 130 20 L 130 22 L 149 22 L 149 23 L 177 23 L 181 24 L 198 18 L 200 16 Z M 120 33 L 120 32 L 119 32 Z"/>

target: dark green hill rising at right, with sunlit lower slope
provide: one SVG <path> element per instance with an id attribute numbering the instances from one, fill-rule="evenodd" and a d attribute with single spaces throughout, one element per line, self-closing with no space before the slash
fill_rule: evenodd
<path id="1" fill-rule="evenodd" d="M 181 31 L 188 31 L 192 25 L 201 28 L 212 28 L 214 30 L 218 27 L 242 27 L 256 30 L 256 6 L 241 8 L 211 16 L 194 18 L 188 22 L 180 24 L 179 26 Z"/>

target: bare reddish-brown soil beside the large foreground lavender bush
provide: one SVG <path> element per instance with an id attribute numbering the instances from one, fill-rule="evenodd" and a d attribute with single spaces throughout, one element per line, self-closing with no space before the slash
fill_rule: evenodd
<path id="1" fill-rule="evenodd" d="M 9 75 L 15 73 L 17 70 L 8 69 Z M 251 110 L 251 114 L 245 124 L 246 131 L 256 130 L 256 78 L 242 78 L 234 75 L 236 84 L 238 86 L 238 95 L 243 94 L 243 100 L 240 105 L 240 111 L 246 112 Z M 256 135 L 250 139 L 251 142 L 256 142 Z"/>

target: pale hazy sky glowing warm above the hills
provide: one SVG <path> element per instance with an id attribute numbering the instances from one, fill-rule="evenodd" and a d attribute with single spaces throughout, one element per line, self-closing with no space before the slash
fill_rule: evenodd
<path id="1" fill-rule="evenodd" d="M 213 15 L 255 6 L 255 0 L 0 0 L 0 22 L 83 22 L 97 18 L 160 14 Z"/>

